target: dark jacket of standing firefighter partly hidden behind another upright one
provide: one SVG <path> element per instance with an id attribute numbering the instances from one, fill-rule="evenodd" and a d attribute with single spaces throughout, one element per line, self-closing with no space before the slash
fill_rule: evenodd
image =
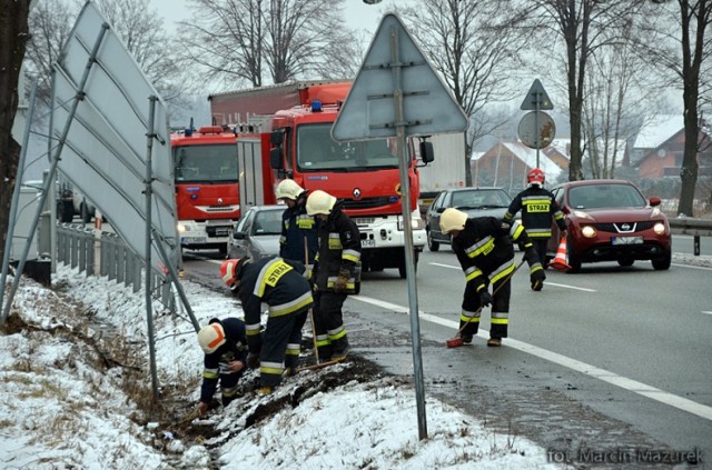
<path id="1" fill-rule="evenodd" d="M 319 246 L 318 228 L 319 220 L 307 214 L 304 202 L 294 208 L 287 208 L 281 216 L 279 256 L 286 260 L 314 264 Z M 308 259 L 305 251 L 308 252 Z"/>

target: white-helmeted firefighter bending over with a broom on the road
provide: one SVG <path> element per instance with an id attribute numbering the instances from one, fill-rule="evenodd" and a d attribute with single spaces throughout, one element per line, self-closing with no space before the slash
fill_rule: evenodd
<path id="1" fill-rule="evenodd" d="M 541 289 L 546 279 L 526 231 L 518 222 L 508 223 L 494 217 L 469 219 L 467 213 L 454 208 L 443 212 L 441 230 L 451 234 L 453 251 L 465 272 L 466 284 L 459 317 L 461 328 L 467 323 L 461 333 L 463 342 L 472 342 L 479 328 L 482 308 L 492 304 L 487 346 L 501 346 L 502 338 L 507 337 L 510 323 L 510 274 L 516 269 L 512 240 L 525 250 L 532 289 Z M 488 291 L 490 284 L 493 286 L 494 299 Z"/>

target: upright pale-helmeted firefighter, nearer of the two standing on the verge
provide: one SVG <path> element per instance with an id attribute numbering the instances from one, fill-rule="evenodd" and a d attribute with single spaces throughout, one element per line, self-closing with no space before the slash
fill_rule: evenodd
<path id="1" fill-rule="evenodd" d="M 307 198 L 307 213 L 320 220 L 314 323 L 324 360 L 342 360 L 348 354 L 342 308 L 346 296 L 358 293 L 360 287 L 360 233 L 342 208 L 343 202 L 320 190 Z"/>

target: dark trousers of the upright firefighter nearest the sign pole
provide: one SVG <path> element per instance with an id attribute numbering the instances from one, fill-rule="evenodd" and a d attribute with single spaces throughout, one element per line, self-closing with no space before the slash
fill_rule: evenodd
<path id="1" fill-rule="evenodd" d="M 333 354 L 340 354 L 348 348 L 346 327 L 342 308 L 345 293 L 316 292 L 314 298 L 314 329 L 319 359 L 327 361 Z"/>

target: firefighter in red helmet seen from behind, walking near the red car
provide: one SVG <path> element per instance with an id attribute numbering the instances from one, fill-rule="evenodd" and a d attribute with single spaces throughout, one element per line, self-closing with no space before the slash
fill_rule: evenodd
<path id="1" fill-rule="evenodd" d="M 566 237 L 566 222 L 554 194 L 544 189 L 544 171 L 534 168 L 526 174 L 526 182 L 528 187 L 512 200 L 504 221 L 512 223 L 514 216 L 522 211 L 522 224 L 534 243 L 542 267 L 546 269 L 546 246 L 552 237 L 552 219 L 558 226 L 562 237 Z"/>

